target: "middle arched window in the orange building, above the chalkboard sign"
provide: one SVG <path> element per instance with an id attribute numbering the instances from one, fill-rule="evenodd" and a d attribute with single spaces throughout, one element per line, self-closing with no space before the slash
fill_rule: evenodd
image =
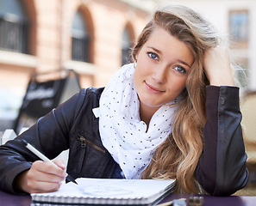
<path id="1" fill-rule="evenodd" d="M 81 12 L 72 22 L 72 60 L 90 62 L 90 35 Z"/>

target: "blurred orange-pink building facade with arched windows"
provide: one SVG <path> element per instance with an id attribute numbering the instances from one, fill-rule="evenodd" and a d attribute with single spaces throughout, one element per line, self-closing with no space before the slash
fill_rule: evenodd
<path id="1" fill-rule="evenodd" d="M 82 87 L 104 86 L 148 18 L 119 0 L 3 0 L 0 11 L 0 88 L 21 94 L 34 72 L 60 69 L 77 71 Z"/>

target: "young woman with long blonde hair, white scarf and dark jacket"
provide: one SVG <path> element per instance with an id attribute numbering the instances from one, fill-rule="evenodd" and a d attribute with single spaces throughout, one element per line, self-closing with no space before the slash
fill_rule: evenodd
<path id="1" fill-rule="evenodd" d="M 66 177 L 61 161 L 39 161 L 22 139 L 51 159 L 69 148 L 73 178 L 177 179 L 179 192 L 213 195 L 240 190 L 248 172 L 239 88 L 219 44 L 193 10 L 157 9 L 134 46 L 134 64 L 1 146 L 1 190 L 56 191 Z"/>

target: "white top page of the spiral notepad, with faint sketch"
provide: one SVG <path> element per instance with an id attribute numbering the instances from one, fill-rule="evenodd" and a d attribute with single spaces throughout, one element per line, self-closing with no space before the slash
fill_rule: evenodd
<path id="1" fill-rule="evenodd" d="M 152 197 L 165 191 L 175 180 L 167 179 L 76 179 L 61 185 L 59 191 L 41 193 L 41 197 L 103 197 L 103 198 L 142 198 Z M 36 195 L 36 194 L 32 194 Z"/>

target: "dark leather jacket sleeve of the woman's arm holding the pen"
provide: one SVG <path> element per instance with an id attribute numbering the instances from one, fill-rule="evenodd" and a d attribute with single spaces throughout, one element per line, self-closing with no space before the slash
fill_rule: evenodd
<path id="1" fill-rule="evenodd" d="M 34 126 L 17 136 L 15 140 L 0 146 L 0 190 L 17 193 L 14 185 L 17 175 L 28 170 L 32 162 L 39 160 L 22 145 L 21 139 L 34 145 L 49 159 L 69 148 L 69 131 L 83 104 L 84 95 L 85 89 L 82 89 L 45 117 L 39 118 Z"/>

